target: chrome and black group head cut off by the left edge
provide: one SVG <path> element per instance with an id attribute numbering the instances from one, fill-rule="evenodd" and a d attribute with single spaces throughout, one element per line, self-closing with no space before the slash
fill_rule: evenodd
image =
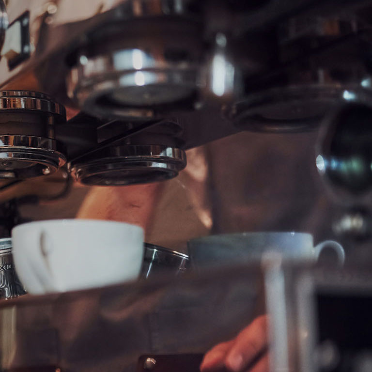
<path id="1" fill-rule="evenodd" d="M 54 124 L 65 124 L 65 109 L 47 94 L 0 91 L 0 115 L 4 118 L 0 133 L 0 178 L 48 175 L 66 163 L 62 146 L 54 139 Z M 13 134 L 4 134 L 13 130 Z"/>

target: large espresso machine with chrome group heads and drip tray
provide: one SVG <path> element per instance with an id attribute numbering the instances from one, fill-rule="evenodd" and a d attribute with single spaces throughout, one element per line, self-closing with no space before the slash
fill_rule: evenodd
<path id="1" fill-rule="evenodd" d="M 334 231 L 368 240 L 371 74 L 368 0 L 0 0 L 0 191 L 63 185 L 5 200 L 1 233 L 20 206 L 73 184 L 161 182 L 187 150 L 233 134 L 319 131 L 316 166 L 344 211 Z M 362 264 L 273 257 L 21 296 L 0 302 L 0 369 L 198 371 L 208 348 L 268 313 L 272 371 L 370 371 L 371 289 Z"/>

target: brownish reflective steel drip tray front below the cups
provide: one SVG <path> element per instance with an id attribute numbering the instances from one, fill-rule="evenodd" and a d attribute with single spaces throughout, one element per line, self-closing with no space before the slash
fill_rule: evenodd
<path id="1" fill-rule="evenodd" d="M 144 354 L 204 353 L 254 318 L 260 272 L 235 268 L 2 302 L 0 367 L 134 371 Z"/>

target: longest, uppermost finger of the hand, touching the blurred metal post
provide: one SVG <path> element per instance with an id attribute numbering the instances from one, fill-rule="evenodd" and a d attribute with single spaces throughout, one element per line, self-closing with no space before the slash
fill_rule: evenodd
<path id="1" fill-rule="evenodd" d="M 225 366 L 232 372 L 243 371 L 268 345 L 267 316 L 256 318 L 236 337 L 226 355 Z"/>

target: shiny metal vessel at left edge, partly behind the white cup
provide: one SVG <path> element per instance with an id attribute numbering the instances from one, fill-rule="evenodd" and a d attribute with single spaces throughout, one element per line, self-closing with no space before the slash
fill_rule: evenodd
<path id="1" fill-rule="evenodd" d="M 0 239 L 0 299 L 26 294 L 13 263 L 12 239 Z"/>

